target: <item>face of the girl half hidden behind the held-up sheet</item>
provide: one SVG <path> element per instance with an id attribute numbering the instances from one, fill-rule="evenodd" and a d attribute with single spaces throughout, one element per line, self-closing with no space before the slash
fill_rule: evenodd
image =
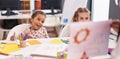
<path id="1" fill-rule="evenodd" d="M 90 15 L 87 12 L 79 13 L 78 14 L 78 22 L 85 22 L 85 21 L 90 21 Z"/>

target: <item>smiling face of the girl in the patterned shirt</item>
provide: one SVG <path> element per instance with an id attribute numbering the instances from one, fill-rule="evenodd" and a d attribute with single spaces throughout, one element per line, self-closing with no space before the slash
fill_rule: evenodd
<path id="1" fill-rule="evenodd" d="M 38 14 L 36 17 L 31 19 L 32 29 L 38 30 L 45 21 L 45 16 L 42 14 Z"/>

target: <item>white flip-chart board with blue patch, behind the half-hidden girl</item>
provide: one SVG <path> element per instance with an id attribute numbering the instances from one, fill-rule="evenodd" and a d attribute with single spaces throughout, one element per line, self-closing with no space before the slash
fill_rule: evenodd
<path id="1" fill-rule="evenodd" d="M 86 6 L 87 0 L 65 0 L 61 24 L 65 25 L 66 23 L 70 22 L 77 8 Z"/>

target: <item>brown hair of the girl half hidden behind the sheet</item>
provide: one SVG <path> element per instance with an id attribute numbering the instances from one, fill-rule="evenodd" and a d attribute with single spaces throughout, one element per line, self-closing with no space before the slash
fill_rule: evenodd
<path id="1" fill-rule="evenodd" d="M 90 14 L 90 11 L 87 9 L 87 8 L 78 8 L 77 11 L 75 11 L 74 15 L 73 15 L 73 18 L 72 18 L 72 22 L 77 22 L 77 18 L 79 17 L 79 13 L 89 13 Z"/>

